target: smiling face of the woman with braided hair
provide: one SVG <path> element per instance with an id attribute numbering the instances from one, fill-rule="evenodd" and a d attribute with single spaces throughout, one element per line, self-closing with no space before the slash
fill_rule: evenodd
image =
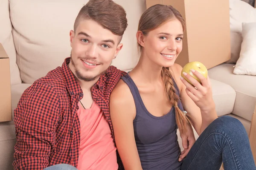
<path id="1" fill-rule="evenodd" d="M 171 67 L 182 50 L 183 28 L 172 19 L 143 37 L 145 57 L 162 67 Z"/>

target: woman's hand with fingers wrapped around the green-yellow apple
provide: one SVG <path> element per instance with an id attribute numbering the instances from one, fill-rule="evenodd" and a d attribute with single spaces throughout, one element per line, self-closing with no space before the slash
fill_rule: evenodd
<path id="1" fill-rule="evenodd" d="M 191 70 L 192 73 L 201 80 L 200 84 L 196 79 L 194 79 L 191 75 L 183 72 L 182 74 L 189 79 L 189 81 L 195 86 L 193 87 L 189 82 L 186 81 L 183 77 L 180 77 L 183 84 L 186 86 L 186 93 L 188 96 L 195 102 L 195 104 L 201 109 L 201 112 L 209 112 L 215 109 L 215 104 L 212 99 L 212 86 L 209 81 L 209 77 L 207 79 L 200 74 L 198 71 Z"/>

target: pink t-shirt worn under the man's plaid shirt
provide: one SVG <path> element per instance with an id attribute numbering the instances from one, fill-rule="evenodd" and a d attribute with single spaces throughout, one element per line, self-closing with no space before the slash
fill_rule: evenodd
<path id="1" fill-rule="evenodd" d="M 77 111 L 81 139 L 78 170 L 117 170 L 116 147 L 101 108 L 95 102 L 90 109 L 79 103 Z"/>

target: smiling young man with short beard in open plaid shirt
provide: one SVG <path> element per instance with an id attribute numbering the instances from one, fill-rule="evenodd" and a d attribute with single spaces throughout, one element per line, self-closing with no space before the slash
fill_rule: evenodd
<path id="1" fill-rule="evenodd" d="M 123 168 L 109 97 L 125 74 L 110 65 L 126 28 L 125 10 L 112 0 L 81 8 L 70 31 L 71 57 L 27 88 L 15 109 L 15 170 Z"/>

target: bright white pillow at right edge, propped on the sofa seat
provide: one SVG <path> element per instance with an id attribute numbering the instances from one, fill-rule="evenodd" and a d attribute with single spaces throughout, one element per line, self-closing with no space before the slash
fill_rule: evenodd
<path id="1" fill-rule="evenodd" d="M 256 75 L 256 22 L 242 23 L 242 37 L 240 57 L 233 73 Z"/>

